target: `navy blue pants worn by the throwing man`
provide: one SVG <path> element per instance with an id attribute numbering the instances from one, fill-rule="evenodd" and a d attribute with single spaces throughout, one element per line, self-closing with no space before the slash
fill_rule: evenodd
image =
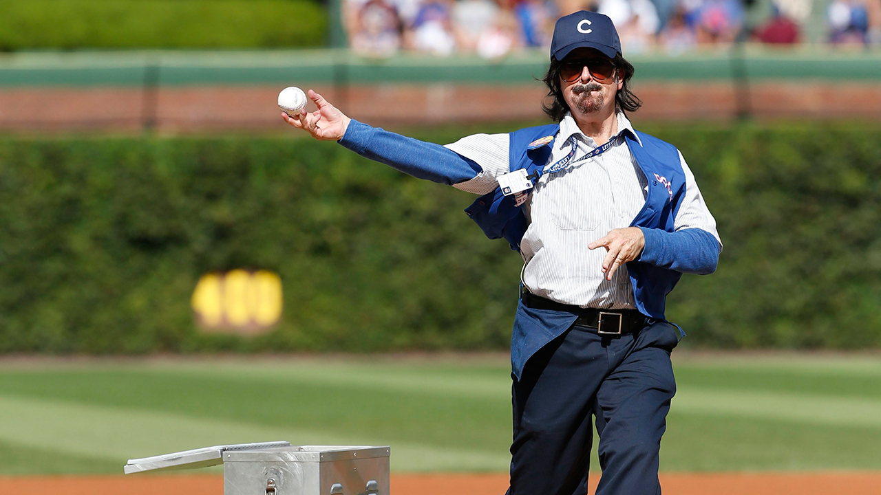
<path id="1" fill-rule="evenodd" d="M 603 469 L 596 495 L 660 494 L 677 336 L 663 321 L 619 337 L 574 326 L 529 358 L 513 387 L 508 495 L 587 494 L 592 417 Z"/>

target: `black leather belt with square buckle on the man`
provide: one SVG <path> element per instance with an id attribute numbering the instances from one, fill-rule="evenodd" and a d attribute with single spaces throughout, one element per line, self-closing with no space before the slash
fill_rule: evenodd
<path id="1" fill-rule="evenodd" d="M 523 305 L 533 309 L 550 309 L 577 314 L 575 325 L 596 329 L 601 336 L 621 336 L 639 331 L 646 325 L 646 315 L 635 309 L 595 309 L 562 304 L 544 299 L 523 289 L 520 292 Z"/>

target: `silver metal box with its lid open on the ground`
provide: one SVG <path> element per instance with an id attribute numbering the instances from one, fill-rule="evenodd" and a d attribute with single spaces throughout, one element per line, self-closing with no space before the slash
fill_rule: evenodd
<path id="1" fill-rule="evenodd" d="M 389 495 L 390 447 L 264 442 L 130 459 L 125 473 L 223 464 L 224 495 Z"/>

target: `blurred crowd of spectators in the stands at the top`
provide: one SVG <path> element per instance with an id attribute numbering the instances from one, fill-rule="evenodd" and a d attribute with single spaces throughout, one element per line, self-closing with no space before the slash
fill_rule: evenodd
<path id="1" fill-rule="evenodd" d="M 811 16 L 825 17 L 835 45 L 881 45 L 881 0 L 344 0 L 350 46 L 364 55 L 398 50 L 500 58 L 547 48 L 557 18 L 589 10 L 608 15 L 626 54 L 671 54 L 734 41 L 787 45 L 806 41 Z M 821 12 L 818 12 L 820 10 Z M 825 10 L 825 13 L 822 12 Z"/>

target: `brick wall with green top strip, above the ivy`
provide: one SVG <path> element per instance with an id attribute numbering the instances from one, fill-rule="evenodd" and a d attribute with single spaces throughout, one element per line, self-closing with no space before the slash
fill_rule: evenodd
<path id="1" fill-rule="evenodd" d="M 809 48 L 633 56 L 639 117 L 881 118 L 881 53 Z M 545 69 L 539 52 L 494 62 L 335 50 L 4 55 L 0 129 L 278 129 L 286 85 L 381 125 L 531 120 L 543 116 Z"/>

